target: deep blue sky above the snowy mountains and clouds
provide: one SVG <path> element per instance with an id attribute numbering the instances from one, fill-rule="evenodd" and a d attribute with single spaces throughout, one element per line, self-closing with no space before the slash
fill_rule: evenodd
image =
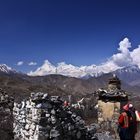
<path id="1" fill-rule="evenodd" d="M 140 43 L 139 0 L 0 1 L 0 63 L 28 72 L 53 64 L 100 64 L 128 37 Z M 24 65 L 17 66 L 18 61 Z M 29 62 L 36 66 L 28 66 Z"/>

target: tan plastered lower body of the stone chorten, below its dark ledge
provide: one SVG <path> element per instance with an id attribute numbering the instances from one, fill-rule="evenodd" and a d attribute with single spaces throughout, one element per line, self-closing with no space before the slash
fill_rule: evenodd
<path id="1" fill-rule="evenodd" d="M 101 130 L 109 131 L 118 139 L 118 118 L 120 115 L 120 102 L 98 101 L 98 124 Z"/>

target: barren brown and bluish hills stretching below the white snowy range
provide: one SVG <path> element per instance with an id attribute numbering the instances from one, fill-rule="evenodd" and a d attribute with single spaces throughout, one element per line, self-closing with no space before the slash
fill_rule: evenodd
<path id="1" fill-rule="evenodd" d="M 11 69 L 10 69 L 11 70 Z M 0 88 L 6 89 L 15 96 L 28 96 L 31 92 L 48 92 L 53 95 L 85 96 L 94 93 L 98 88 L 107 87 L 108 79 L 116 74 L 122 81 L 122 88 L 135 95 L 140 91 L 140 73 L 137 66 L 127 67 L 98 77 L 76 78 L 60 74 L 46 76 L 29 76 L 15 71 L 0 72 Z M 131 74 L 131 76 L 130 76 Z M 128 76 L 126 76 L 128 75 Z M 131 82 L 130 82 L 131 81 Z"/>

